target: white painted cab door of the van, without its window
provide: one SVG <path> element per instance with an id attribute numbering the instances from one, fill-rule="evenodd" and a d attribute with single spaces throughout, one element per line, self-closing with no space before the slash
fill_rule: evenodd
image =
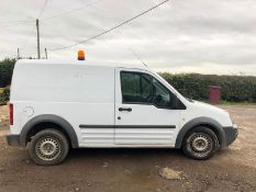
<path id="1" fill-rule="evenodd" d="M 115 69 L 115 125 L 175 125 L 179 127 L 179 110 L 158 109 L 149 104 L 123 104 L 120 71 L 141 71 L 154 76 L 144 69 Z M 119 111 L 131 108 L 132 112 Z M 118 117 L 121 120 L 118 120 Z M 116 145 L 166 145 L 174 146 L 178 128 L 115 128 Z"/>

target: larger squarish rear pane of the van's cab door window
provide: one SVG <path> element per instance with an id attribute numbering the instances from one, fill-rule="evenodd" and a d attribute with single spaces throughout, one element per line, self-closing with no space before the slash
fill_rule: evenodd
<path id="1" fill-rule="evenodd" d="M 122 71 L 121 89 L 123 102 L 152 103 L 152 78 L 146 74 Z"/>

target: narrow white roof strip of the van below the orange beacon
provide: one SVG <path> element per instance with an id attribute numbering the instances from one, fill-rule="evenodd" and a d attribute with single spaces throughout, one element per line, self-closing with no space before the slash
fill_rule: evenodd
<path id="1" fill-rule="evenodd" d="M 62 60 L 62 59 L 20 59 L 16 63 L 20 64 L 35 64 L 35 65 L 86 65 L 97 67 L 110 67 L 110 68 L 132 68 L 132 69 L 147 69 L 143 64 L 121 64 L 121 63 L 109 63 L 109 61 L 88 61 L 88 60 Z"/>

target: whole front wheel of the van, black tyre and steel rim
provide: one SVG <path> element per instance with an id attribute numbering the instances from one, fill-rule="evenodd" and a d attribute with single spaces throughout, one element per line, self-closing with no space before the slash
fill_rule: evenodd
<path id="1" fill-rule="evenodd" d="M 192 159 L 204 160 L 219 149 L 219 140 L 213 131 L 199 126 L 189 132 L 182 143 L 185 155 Z"/>

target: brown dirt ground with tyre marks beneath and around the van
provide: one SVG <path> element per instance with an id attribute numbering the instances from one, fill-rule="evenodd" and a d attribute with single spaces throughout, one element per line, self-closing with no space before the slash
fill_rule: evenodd
<path id="1" fill-rule="evenodd" d="M 27 150 L 7 146 L 7 106 L 0 106 L 0 192 L 256 191 L 256 105 L 221 108 L 240 135 L 209 160 L 188 159 L 177 149 L 76 149 L 64 163 L 41 167 Z"/>

